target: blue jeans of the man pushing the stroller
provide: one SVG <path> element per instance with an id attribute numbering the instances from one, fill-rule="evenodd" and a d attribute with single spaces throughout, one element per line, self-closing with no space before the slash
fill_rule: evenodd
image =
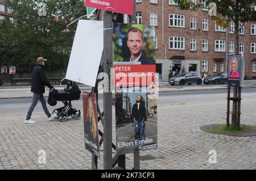
<path id="1" fill-rule="evenodd" d="M 31 119 L 32 112 L 34 111 L 34 108 L 36 107 L 36 104 L 38 104 L 38 100 L 40 100 L 40 102 L 43 106 L 44 113 L 46 113 L 47 117 L 51 117 L 51 113 L 49 113 L 49 111 L 46 107 L 46 99 L 44 99 L 44 95 L 34 93 L 33 98 L 32 98 L 31 106 L 30 106 L 30 108 L 28 109 L 28 112 L 27 112 L 27 120 Z"/>

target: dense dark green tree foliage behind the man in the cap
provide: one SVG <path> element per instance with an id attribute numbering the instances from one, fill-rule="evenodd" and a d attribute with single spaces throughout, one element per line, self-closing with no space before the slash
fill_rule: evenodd
<path id="1" fill-rule="evenodd" d="M 39 2 L 45 2 L 46 16 L 39 16 Z M 6 0 L 12 12 L 0 21 L 1 65 L 31 67 L 36 58 L 47 58 L 49 69 L 67 68 L 76 24 L 64 31 L 73 20 L 86 14 L 82 1 L 77 0 Z"/>

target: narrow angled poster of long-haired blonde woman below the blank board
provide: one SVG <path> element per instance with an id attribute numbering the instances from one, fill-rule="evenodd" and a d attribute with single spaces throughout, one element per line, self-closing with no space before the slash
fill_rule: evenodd
<path id="1" fill-rule="evenodd" d="M 82 92 L 85 148 L 100 158 L 96 94 Z"/>

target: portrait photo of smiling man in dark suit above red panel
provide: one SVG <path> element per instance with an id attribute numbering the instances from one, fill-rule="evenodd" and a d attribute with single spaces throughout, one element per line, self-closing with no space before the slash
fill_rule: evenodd
<path id="1" fill-rule="evenodd" d="M 155 65 L 155 27 L 114 23 L 114 64 Z"/>

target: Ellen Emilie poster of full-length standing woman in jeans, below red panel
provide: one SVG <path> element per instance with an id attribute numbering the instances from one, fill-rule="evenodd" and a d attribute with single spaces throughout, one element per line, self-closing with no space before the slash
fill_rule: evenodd
<path id="1" fill-rule="evenodd" d="M 117 154 L 157 148 L 157 96 L 148 91 L 115 93 Z"/>

